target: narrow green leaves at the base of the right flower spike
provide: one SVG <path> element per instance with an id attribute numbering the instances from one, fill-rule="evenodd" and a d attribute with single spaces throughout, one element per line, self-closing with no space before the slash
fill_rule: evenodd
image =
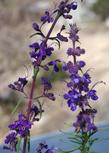
<path id="1" fill-rule="evenodd" d="M 95 132 L 75 132 L 69 133 L 69 142 L 72 143 L 72 150 L 60 151 L 59 153 L 73 153 L 79 151 L 79 153 L 96 153 L 91 151 L 92 145 L 98 141 L 99 138 L 93 137 Z M 75 147 L 74 147 L 75 146 Z"/>

